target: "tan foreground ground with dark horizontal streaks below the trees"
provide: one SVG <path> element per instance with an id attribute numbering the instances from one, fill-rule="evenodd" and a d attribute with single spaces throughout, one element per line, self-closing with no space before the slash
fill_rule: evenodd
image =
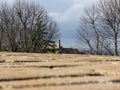
<path id="1" fill-rule="evenodd" d="M 0 52 L 0 90 L 120 90 L 120 57 Z"/>

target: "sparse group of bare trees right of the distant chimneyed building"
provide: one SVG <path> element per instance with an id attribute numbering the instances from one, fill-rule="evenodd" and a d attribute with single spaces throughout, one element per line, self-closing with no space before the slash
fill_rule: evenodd
<path id="1" fill-rule="evenodd" d="M 99 0 L 80 18 L 77 39 L 91 54 L 119 55 L 120 0 Z"/>

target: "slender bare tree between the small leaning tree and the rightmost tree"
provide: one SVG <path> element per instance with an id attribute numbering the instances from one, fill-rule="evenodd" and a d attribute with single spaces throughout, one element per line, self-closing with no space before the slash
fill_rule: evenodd
<path id="1" fill-rule="evenodd" d="M 100 53 L 100 35 L 98 30 L 98 13 L 97 7 L 86 8 L 84 16 L 80 19 L 80 27 L 78 29 L 78 39 L 85 41 L 90 51 L 94 54 Z M 85 35 L 86 33 L 86 35 Z"/>

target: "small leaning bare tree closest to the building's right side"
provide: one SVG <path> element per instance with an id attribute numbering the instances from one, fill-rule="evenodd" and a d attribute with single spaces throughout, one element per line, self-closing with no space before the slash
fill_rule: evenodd
<path id="1" fill-rule="evenodd" d="M 78 42 L 83 45 L 87 45 L 90 49 L 90 53 L 94 54 L 94 48 L 93 48 L 93 43 L 92 43 L 92 39 L 93 39 L 92 34 L 93 34 L 93 32 L 90 31 L 90 26 L 87 21 L 87 18 L 83 16 L 80 19 L 80 26 L 77 30 Z"/>

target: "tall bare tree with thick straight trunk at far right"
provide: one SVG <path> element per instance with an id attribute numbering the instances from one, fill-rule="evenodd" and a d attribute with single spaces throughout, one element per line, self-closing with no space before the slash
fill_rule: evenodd
<path id="1" fill-rule="evenodd" d="M 118 55 L 118 38 L 120 31 L 120 0 L 101 0 L 98 12 L 103 23 L 106 38 L 113 39 L 114 55 Z"/>

